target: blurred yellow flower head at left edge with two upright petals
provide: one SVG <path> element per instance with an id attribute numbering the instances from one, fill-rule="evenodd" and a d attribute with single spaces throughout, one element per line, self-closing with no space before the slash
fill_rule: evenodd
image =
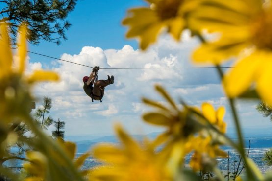
<path id="1" fill-rule="evenodd" d="M 30 94 L 32 85 L 40 81 L 57 81 L 59 76 L 52 71 L 36 70 L 27 76 L 26 59 L 26 25 L 19 28 L 17 58 L 13 59 L 10 38 L 6 23 L 0 23 L 0 117 L 5 121 L 12 116 L 21 116 L 31 110 Z M 24 106 L 22 106 L 24 105 Z"/>

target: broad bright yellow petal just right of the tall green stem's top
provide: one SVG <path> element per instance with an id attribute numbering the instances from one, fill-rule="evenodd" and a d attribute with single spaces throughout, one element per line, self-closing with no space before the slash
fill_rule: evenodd
<path id="1" fill-rule="evenodd" d="M 250 87 L 251 83 L 256 80 L 256 74 L 263 58 L 263 55 L 253 53 L 238 61 L 234 68 L 230 69 L 223 80 L 223 86 L 228 96 L 236 97 Z"/>

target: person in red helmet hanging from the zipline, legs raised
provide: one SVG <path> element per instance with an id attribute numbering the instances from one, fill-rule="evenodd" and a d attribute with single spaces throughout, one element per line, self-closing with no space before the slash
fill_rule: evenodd
<path id="1" fill-rule="evenodd" d="M 103 101 L 105 87 L 113 84 L 114 76 L 111 77 L 108 75 L 107 80 L 97 80 L 98 79 L 98 70 L 99 66 L 95 66 L 90 74 L 90 76 L 83 77 L 83 90 L 85 93 L 92 98 L 92 102 L 94 100 Z"/>

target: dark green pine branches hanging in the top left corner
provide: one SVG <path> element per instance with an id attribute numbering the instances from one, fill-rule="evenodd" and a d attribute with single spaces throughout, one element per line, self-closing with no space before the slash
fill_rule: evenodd
<path id="1" fill-rule="evenodd" d="M 66 40 L 65 30 L 71 24 L 66 20 L 68 13 L 74 10 L 77 0 L 0 0 L 0 22 L 10 27 L 15 44 L 18 26 L 27 23 L 27 39 L 31 44 L 40 40 L 55 42 Z M 2 18 L 2 19 L 1 19 Z"/>

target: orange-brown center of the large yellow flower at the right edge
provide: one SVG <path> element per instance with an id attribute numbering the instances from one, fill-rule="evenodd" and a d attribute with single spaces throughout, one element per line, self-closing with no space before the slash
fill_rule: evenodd
<path id="1" fill-rule="evenodd" d="M 272 50 L 272 8 L 263 12 L 252 24 L 252 42 L 257 48 Z"/>

